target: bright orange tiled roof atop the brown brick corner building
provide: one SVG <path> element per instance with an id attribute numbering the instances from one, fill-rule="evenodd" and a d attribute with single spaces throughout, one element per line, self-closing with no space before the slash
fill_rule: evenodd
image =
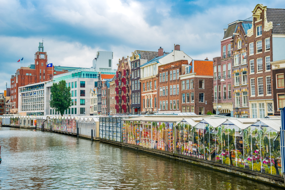
<path id="1" fill-rule="evenodd" d="M 196 75 L 213 76 L 213 61 L 192 60 L 192 62 L 193 61 L 194 73 L 196 73 Z M 190 63 L 190 65 L 192 65 L 192 62 Z M 192 72 L 192 69 L 190 72 Z"/>

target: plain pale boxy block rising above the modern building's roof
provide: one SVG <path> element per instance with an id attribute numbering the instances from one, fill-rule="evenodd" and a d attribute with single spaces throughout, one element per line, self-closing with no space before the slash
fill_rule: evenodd
<path id="1" fill-rule="evenodd" d="M 94 69 L 108 68 L 112 69 L 113 52 L 97 51 L 93 60 Z"/>

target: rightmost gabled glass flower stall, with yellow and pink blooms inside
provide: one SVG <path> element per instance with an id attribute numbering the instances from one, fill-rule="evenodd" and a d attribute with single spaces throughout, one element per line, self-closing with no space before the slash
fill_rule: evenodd
<path id="1" fill-rule="evenodd" d="M 257 122 L 251 126 L 252 157 L 248 158 L 249 169 L 282 177 L 280 137 L 273 141 L 277 131 L 262 124 Z"/>

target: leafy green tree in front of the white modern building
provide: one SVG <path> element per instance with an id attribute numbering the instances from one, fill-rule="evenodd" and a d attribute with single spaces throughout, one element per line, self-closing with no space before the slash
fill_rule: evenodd
<path id="1" fill-rule="evenodd" d="M 58 83 L 53 83 L 50 89 L 52 99 L 50 100 L 50 107 L 55 111 L 59 111 L 63 116 L 64 111 L 70 108 L 71 105 L 71 93 L 70 87 L 66 86 L 66 81 L 61 80 Z"/>

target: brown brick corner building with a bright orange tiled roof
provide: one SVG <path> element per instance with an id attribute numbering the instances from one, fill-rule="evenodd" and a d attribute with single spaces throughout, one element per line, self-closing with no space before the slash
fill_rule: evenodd
<path id="1" fill-rule="evenodd" d="M 180 75 L 181 112 L 206 115 L 213 110 L 213 61 L 192 60 L 184 69 Z"/>

